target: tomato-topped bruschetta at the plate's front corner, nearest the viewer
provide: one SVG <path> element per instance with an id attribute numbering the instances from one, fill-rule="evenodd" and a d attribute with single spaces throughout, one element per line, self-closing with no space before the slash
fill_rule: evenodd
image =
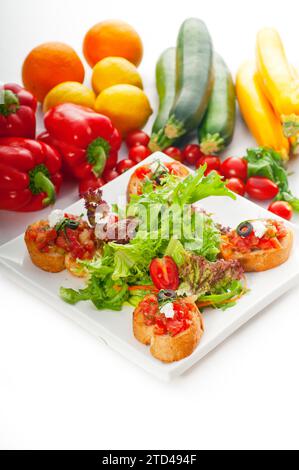
<path id="1" fill-rule="evenodd" d="M 149 294 L 134 310 L 133 332 L 138 341 L 150 346 L 156 359 L 169 363 L 194 351 L 204 323 L 192 298 L 177 298 L 161 306 L 157 296 Z"/>

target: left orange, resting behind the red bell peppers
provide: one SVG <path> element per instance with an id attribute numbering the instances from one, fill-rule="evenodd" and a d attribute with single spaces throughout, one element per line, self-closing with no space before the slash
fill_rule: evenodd
<path id="1" fill-rule="evenodd" d="M 38 101 L 62 82 L 82 83 L 84 67 L 77 53 L 67 44 L 47 42 L 32 49 L 22 68 L 23 83 Z"/>

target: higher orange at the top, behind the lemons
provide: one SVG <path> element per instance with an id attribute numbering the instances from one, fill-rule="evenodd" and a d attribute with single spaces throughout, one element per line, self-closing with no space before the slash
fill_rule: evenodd
<path id="1" fill-rule="evenodd" d="M 107 20 L 95 24 L 87 31 L 83 41 L 83 54 L 91 67 L 104 57 L 124 57 L 139 65 L 143 55 L 140 36 L 124 21 Z"/>

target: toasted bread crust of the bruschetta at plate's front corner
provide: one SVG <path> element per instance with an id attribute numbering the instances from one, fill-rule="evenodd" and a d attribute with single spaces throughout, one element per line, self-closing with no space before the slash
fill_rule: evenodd
<path id="1" fill-rule="evenodd" d="M 203 332 L 203 317 L 194 304 L 191 312 L 192 322 L 190 327 L 176 336 L 156 335 L 154 326 L 144 323 L 144 316 L 137 306 L 133 313 L 133 332 L 135 338 L 142 344 L 150 345 L 150 352 L 162 362 L 174 362 L 190 356 L 198 345 Z"/>

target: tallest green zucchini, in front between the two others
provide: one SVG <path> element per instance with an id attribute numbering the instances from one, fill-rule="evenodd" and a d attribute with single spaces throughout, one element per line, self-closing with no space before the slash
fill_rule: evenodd
<path id="1" fill-rule="evenodd" d="M 162 150 L 197 129 L 213 87 L 213 46 L 203 21 L 189 18 L 182 24 L 176 47 L 176 94 L 163 129 L 152 137 L 152 150 Z"/>

